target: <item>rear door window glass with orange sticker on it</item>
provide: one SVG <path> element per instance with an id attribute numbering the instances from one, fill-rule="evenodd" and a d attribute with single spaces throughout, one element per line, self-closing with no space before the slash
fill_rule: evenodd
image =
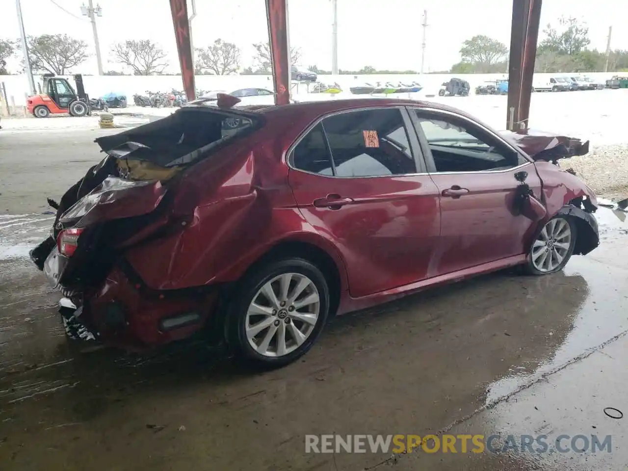
<path id="1" fill-rule="evenodd" d="M 416 173 L 401 111 L 381 108 L 323 120 L 336 176 Z"/>

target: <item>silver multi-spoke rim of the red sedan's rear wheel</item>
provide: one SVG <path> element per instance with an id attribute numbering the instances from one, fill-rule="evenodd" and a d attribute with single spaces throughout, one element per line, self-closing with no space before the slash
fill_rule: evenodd
<path id="1" fill-rule="evenodd" d="M 284 273 L 268 281 L 253 296 L 244 330 L 249 345 L 264 357 L 282 357 L 310 337 L 320 310 L 320 296 L 310 278 Z"/>

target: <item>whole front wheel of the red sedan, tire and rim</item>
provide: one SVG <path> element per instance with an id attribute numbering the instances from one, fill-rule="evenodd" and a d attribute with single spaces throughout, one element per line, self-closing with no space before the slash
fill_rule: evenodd
<path id="1" fill-rule="evenodd" d="M 573 254 L 576 237 L 577 227 L 570 217 L 558 215 L 550 219 L 530 248 L 526 272 L 543 275 L 563 269 Z"/>

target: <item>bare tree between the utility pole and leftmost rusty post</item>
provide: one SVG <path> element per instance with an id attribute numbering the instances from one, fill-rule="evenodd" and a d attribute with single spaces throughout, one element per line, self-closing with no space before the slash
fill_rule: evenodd
<path id="1" fill-rule="evenodd" d="M 150 40 L 126 40 L 111 48 L 114 60 L 133 69 L 133 75 L 160 74 L 168 67 L 168 56 L 161 46 Z"/>

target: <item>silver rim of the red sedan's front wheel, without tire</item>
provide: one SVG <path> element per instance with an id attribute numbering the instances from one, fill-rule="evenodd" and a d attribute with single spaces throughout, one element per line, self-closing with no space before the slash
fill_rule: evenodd
<path id="1" fill-rule="evenodd" d="M 571 227 L 565 219 L 551 219 L 534 241 L 532 246 L 532 264 L 543 273 L 553 271 L 560 266 L 571 246 Z"/>

